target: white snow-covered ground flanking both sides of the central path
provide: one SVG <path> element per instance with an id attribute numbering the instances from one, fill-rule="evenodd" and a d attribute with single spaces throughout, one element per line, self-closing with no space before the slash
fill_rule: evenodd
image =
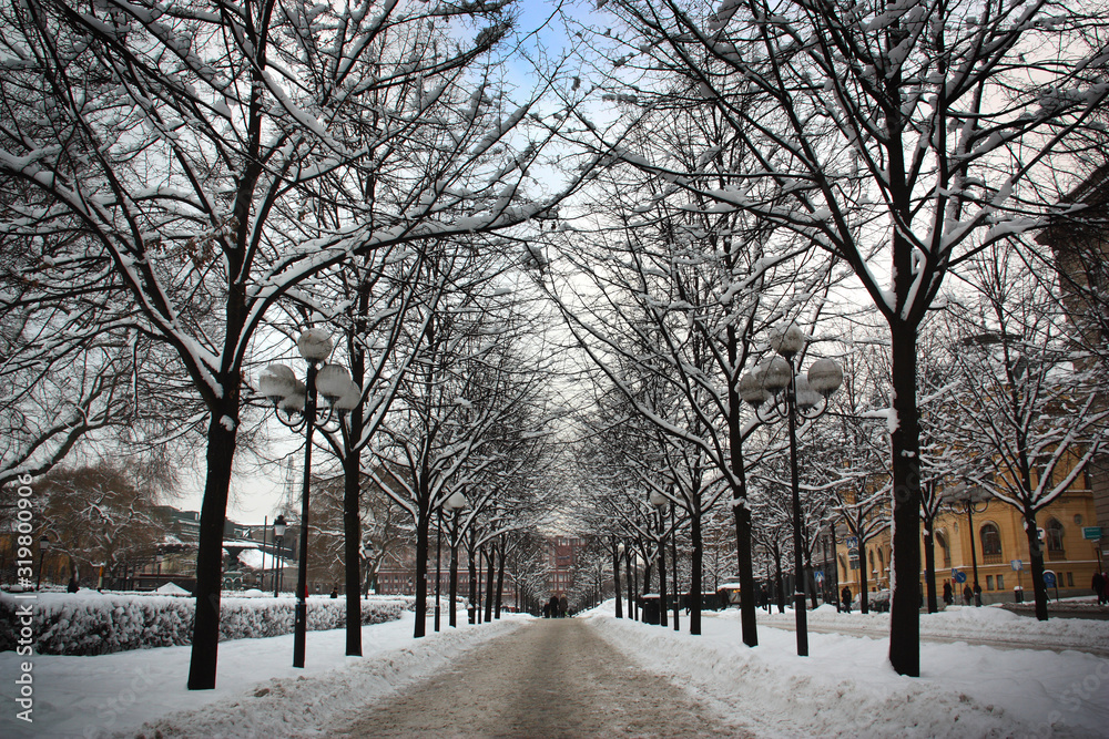
<path id="1" fill-rule="evenodd" d="M 1109 660 L 1079 651 L 997 649 L 925 643 L 923 677 L 897 676 L 885 636 L 810 633 L 807 658 L 793 632 L 774 628 L 792 614 L 760 612 L 760 646 L 740 638 L 739 613 L 705 614 L 704 634 L 615 619 L 612 604 L 586 614 L 589 624 L 642 666 L 733 717 L 757 737 L 1105 737 L 1109 727 Z M 840 615 L 822 608 L 811 623 L 872 624 L 888 615 Z M 226 642 L 213 691 L 185 689 L 189 647 L 99 657 L 33 657 L 33 726 L 14 720 L 20 659 L 0 654 L 0 694 L 9 706 L 0 736 L 328 736 L 353 711 L 460 654 L 525 623 L 461 626 L 411 638 L 413 614 L 363 629 L 363 658 L 346 658 L 344 633 L 308 634 L 307 665 L 291 667 L 292 636 Z M 429 622 L 430 625 L 430 622 Z M 946 638 L 1009 635 L 1032 642 L 1109 644 L 1109 622 L 1052 619 L 1040 624 L 998 608 L 952 609 L 922 617 L 922 630 Z"/>

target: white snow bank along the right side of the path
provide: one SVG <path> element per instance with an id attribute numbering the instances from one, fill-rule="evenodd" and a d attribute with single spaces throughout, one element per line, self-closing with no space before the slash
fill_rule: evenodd
<path id="1" fill-rule="evenodd" d="M 897 675 L 888 663 L 886 634 L 874 638 L 810 632 L 810 656 L 796 654 L 786 620 L 760 612 L 759 646 L 742 642 L 739 612 L 704 614 L 702 635 L 612 617 L 612 604 L 588 614 L 591 625 L 639 665 L 683 686 L 760 737 L 1103 737 L 1109 726 L 1109 661 L 1092 654 L 1032 648 L 998 649 L 960 642 L 970 632 L 1027 634 L 1100 643 L 1103 622 L 1040 623 L 1000 609 L 922 616 L 919 678 Z M 987 610 L 993 613 L 986 613 Z M 826 614 L 810 614 L 811 626 Z M 832 615 L 836 616 L 834 608 Z M 793 615 L 786 614 L 792 624 Z M 875 615 L 877 618 L 878 615 Z M 867 620 L 867 619 L 863 619 Z M 837 625 L 846 626 L 844 614 Z M 1074 643 L 1075 639 L 1071 639 Z"/>

